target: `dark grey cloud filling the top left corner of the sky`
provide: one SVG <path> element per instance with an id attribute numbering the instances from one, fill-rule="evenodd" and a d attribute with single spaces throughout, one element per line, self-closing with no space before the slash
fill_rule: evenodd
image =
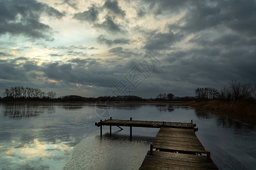
<path id="1" fill-rule="evenodd" d="M 0 1 L 0 35 L 23 34 L 51 40 L 51 28 L 40 22 L 40 15 L 62 18 L 65 14 L 34 0 Z"/>

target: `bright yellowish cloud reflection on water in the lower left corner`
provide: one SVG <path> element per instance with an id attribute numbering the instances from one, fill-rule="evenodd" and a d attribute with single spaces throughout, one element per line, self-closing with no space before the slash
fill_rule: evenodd
<path id="1" fill-rule="evenodd" d="M 34 138 L 29 143 L 11 141 L 9 147 L 0 153 L 2 162 L 15 164 L 2 164 L 3 169 L 59 169 L 58 164 L 65 164 L 63 152 L 71 152 L 73 147 L 68 142 L 56 141 L 41 142 Z M 51 164 L 51 162 L 55 162 Z M 32 164 L 31 164 L 32 163 Z M 47 164 L 42 167 L 43 164 Z"/>

